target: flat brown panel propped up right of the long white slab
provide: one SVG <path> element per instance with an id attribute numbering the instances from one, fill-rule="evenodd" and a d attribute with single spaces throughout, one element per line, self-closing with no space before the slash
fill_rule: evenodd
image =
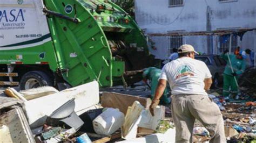
<path id="1" fill-rule="evenodd" d="M 138 101 L 144 108 L 149 109 L 151 104 L 150 98 L 118 94 L 116 92 L 103 92 L 102 106 L 107 108 L 118 108 L 126 115 L 129 106 L 132 106 L 134 101 Z"/>

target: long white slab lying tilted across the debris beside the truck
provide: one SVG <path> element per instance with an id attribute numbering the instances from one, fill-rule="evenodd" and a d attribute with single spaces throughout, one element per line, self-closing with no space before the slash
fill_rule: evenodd
<path id="1" fill-rule="evenodd" d="M 25 102 L 24 108 L 30 127 L 36 128 L 43 125 L 47 116 L 50 116 L 53 111 L 72 98 L 75 98 L 75 112 L 82 111 L 97 104 L 99 102 L 98 82 L 93 81 L 57 92 L 56 94 Z"/>

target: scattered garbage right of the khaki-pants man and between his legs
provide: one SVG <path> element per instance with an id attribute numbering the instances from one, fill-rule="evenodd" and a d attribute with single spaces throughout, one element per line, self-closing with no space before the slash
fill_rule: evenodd
<path id="1" fill-rule="evenodd" d="M 256 102 L 224 99 L 217 92 L 208 96 L 215 102 L 223 114 L 225 135 L 228 142 L 253 142 L 256 141 Z M 194 141 L 210 140 L 203 125 L 193 130 Z"/>

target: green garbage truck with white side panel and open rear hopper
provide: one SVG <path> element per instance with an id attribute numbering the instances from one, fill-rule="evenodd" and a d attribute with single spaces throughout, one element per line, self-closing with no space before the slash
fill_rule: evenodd
<path id="1" fill-rule="evenodd" d="M 132 84 L 153 64 L 143 31 L 110 1 L 0 1 L 0 85 Z"/>

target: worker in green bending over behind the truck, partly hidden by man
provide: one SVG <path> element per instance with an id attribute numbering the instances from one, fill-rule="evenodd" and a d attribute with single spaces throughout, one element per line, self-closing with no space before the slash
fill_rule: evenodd
<path id="1" fill-rule="evenodd" d="M 154 98 L 154 93 L 156 92 L 158 79 L 161 75 L 161 69 L 155 68 L 155 67 L 149 67 L 144 69 L 143 71 L 143 81 L 146 82 L 147 80 L 150 80 L 151 84 L 151 99 Z M 160 102 L 162 104 L 169 104 L 171 103 L 171 98 L 168 97 L 168 90 L 165 89 L 163 96 L 160 98 Z"/>

